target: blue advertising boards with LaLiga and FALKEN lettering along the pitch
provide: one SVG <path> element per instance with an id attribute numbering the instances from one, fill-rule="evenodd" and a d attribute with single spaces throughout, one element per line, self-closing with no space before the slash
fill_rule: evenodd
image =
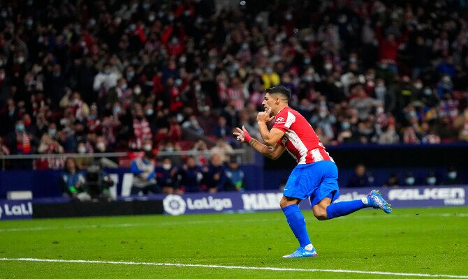
<path id="1" fill-rule="evenodd" d="M 372 188 L 342 188 L 338 201 L 360 199 Z M 403 207 L 467 206 L 468 186 L 421 186 L 414 188 L 379 188 L 394 211 Z M 64 198 L 0 200 L 0 220 L 54 218 L 73 216 L 111 216 L 165 213 L 241 213 L 279 210 L 282 193 L 278 190 L 190 193 L 185 195 L 149 195 L 118 197 L 113 202 L 71 202 Z M 310 210 L 309 201 L 300 207 Z"/>

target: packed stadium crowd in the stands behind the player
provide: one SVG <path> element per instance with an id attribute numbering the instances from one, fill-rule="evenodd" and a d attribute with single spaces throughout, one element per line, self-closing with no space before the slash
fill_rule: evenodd
<path id="1" fill-rule="evenodd" d="M 0 154 L 238 148 L 277 85 L 324 144 L 468 141 L 464 5 L 8 1 Z"/>

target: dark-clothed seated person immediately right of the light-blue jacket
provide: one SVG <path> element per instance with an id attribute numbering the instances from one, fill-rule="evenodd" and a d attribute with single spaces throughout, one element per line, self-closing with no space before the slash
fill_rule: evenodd
<path id="1" fill-rule="evenodd" d="M 156 167 L 156 179 L 164 194 L 173 194 L 179 189 L 179 169 L 169 157 L 163 158 L 161 166 Z"/>

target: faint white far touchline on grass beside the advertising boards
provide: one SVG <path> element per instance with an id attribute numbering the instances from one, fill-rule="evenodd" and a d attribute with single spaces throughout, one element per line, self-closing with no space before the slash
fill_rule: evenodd
<path id="1" fill-rule="evenodd" d="M 434 213 L 434 214 L 390 214 L 382 218 L 434 218 L 434 217 L 468 217 L 468 213 Z M 372 219 L 380 218 L 380 216 L 346 216 L 346 219 Z M 239 219 L 239 220 L 188 220 L 176 222 L 162 222 L 162 223 L 121 223 L 121 224 L 94 224 L 94 225 L 71 225 L 71 226 L 54 226 L 54 227 L 10 227 L 0 229 L 1 232 L 34 232 L 46 231 L 54 229 L 101 229 L 113 227 L 150 227 L 150 226 L 175 226 L 175 225 L 203 225 L 203 224 L 224 224 L 224 223 L 257 223 L 257 222 L 272 222 L 284 220 L 284 218 L 263 218 L 263 219 Z"/>

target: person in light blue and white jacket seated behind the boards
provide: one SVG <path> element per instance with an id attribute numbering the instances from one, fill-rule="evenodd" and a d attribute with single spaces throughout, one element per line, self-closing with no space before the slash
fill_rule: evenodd
<path id="1" fill-rule="evenodd" d="M 145 155 L 142 158 L 136 158 L 131 162 L 131 172 L 133 173 L 131 195 L 138 195 L 139 193 L 147 195 L 149 192 L 153 194 L 161 192 L 157 186 L 152 158 L 153 154 L 151 151 L 145 151 Z"/>

